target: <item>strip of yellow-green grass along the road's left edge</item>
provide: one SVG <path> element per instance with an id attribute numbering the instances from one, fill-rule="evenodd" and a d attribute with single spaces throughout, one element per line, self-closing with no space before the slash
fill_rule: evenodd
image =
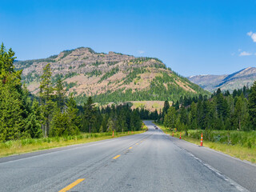
<path id="1" fill-rule="evenodd" d="M 142 130 L 133 132 L 115 132 L 114 138 L 123 137 L 131 134 L 142 134 L 146 131 L 143 125 Z M 112 133 L 95 133 L 95 134 L 79 134 L 76 136 L 56 137 L 56 138 L 25 138 L 16 141 L 8 141 L 0 143 L 0 158 L 14 155 L 24 154 L 38 150 L 48 150 L 56 147 L 71 146 L 86 142 L 97 142 L 112 138 Z"/>

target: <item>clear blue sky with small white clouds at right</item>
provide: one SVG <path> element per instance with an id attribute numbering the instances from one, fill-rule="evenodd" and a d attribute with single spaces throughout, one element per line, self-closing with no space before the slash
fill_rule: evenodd
<path id="1" fill-rule="evenodd" d="M 256 0 L 0 2 L 0 42 L 18 60 L 88 46 L 160 58 L 183 76 L 256 64 Z"/>

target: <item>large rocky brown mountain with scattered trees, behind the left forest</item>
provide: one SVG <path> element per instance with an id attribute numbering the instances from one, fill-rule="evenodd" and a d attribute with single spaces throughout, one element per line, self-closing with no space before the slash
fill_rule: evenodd
<path id="1" fill-rule="evenodd" d="M 172 101 L 181 96 L 209 94 L 187 78 L 176 74 L 158 58 L 136 58 L 110 51 L 96 53 L 86 47 L 65 50 L 49 58 L 14 62 L 23 70 L 22 80 L 38 93 L 43 67 L 50 63 L 53 82 L 64 79 L 68 94 L 78 103 L 93 96 L 96 102 Z"/>

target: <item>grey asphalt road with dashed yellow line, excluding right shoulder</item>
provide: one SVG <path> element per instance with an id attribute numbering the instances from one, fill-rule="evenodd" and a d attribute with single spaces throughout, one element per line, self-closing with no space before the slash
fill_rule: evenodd
<path id="1" fill-rule="evenodd" d="M 0 158 L 0 191 L 246 191 L 146 125 L 144 134 Z"/>

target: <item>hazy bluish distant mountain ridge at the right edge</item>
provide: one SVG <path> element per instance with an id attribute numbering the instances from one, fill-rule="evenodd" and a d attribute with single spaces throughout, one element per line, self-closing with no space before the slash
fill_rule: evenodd
<path id="1" fill-rule="evenodd" d="M 256 67 L 248 67 L 233 74 L 203 74 L 191 76 L 188 79 L 210 92 L 214 92 L 218 88 L 233 91 L 235 89 L 241 89 L 243 86 L 250 87 L 253 85 L 256 80 Z"/>

